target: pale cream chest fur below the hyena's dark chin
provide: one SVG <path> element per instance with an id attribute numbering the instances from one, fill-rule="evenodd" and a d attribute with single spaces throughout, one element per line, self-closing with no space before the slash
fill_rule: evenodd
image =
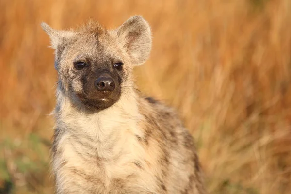
<path id="1" fill-rule="evenodd" d="M 144 173 L 139 168 L 146 153 L 137 139 L 137 135 L 143 134 L 138 129 L 139 114 L 135 108 L 123 109 L 122 104 L 116 104 L 97 114 L 60 114 L 57 124 L 65 132 L 58 141 L 59 154 L 53 161 L 57 184 L 62 185 L 59 188 L 65 188 L 64 185 L 74 188 L 74 182 L 78 182 L 108 192 L 116 181 L 123 180 L 124 185 L 129 178 L 146 176 L 141 176 Z M 131 186 L 134 182 L 130 181 Z"/>

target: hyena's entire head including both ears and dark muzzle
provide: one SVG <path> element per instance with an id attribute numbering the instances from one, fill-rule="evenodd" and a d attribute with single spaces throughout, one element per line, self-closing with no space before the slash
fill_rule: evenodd
<path id="1" fill-rule="evenodd" d="M 90 110 L 117 102 L 130 87 L 131 72 L 143 64 L 151 49 L 151 32 L 141 16 L 129 18 L 119 28 L 107 30 L 90 21 L 70 31 L 54 30 L 42 23 L 55 51 L 55 68 L 65 95 Z"/>

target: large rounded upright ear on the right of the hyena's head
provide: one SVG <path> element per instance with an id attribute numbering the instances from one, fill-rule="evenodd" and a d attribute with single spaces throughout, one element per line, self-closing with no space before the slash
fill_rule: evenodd
<path id="1" fill-rule="evenodd" d="M 133 65 L 141 65 L 147 60 L 151 50 L 151 31 L 143 17 L 129 18 L 117 29 L 117 35 Z"/>

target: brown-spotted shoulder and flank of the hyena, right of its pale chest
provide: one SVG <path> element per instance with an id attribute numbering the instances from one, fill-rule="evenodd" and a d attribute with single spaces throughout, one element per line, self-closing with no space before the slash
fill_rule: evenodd
<path id="1" fill-rule="evenodd" d="M 144 116 L 144 137 L 148 149 L 161 167 L 159 182 L 168 193 L 177 193 L 171 185 L 180 185 L 183 194 L 203 194 L 203 178 L 194 139 L 184 127 L 178 113 L 152 97 L 140 97 L 140 113 Z M 181 174 L 180 172 L 184 172 Z"/>

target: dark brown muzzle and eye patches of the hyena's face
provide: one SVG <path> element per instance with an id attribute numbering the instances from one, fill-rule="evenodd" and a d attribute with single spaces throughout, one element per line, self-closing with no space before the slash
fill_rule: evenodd
<path id="1" fill-rule="evenodd" d="M 78 75 L 82 90 L 76 92 L 81 103 L 89 109 L 105 109 L 120 97 L 122 62 L 108 61 L 103 65 L 91 60 L 76 59 L 74 73 Z"/>

